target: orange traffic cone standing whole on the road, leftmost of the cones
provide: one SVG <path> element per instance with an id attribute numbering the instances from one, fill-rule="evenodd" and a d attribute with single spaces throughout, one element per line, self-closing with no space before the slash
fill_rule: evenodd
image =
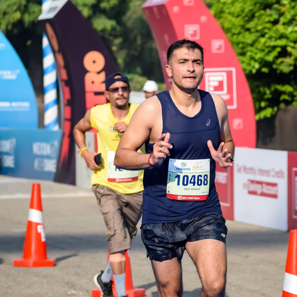
<path id="1" fill-rule="evenodd" d="M 13 265 L 25 267 L 55 265 L 55 259 L 47 259 L 46 255 L 40 184 L 32 185 L 32 194 L 23 259 L 14 260 Z"/>

